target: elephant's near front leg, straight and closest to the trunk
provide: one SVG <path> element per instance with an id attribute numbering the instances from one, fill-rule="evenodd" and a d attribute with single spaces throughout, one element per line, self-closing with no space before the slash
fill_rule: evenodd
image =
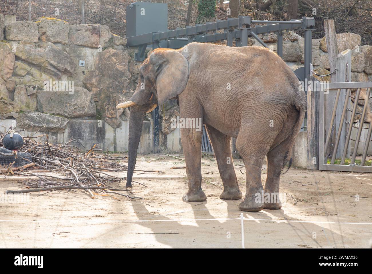
<path id="1" fill-rule="evenodd" d="M 196 128 L 181 128 L 181 140 L 186 161 L 186 174 L 189 191 L 183 195 L 183 201 L 203 202 L 207 199 L 202 190 L 202 135 Z"/>

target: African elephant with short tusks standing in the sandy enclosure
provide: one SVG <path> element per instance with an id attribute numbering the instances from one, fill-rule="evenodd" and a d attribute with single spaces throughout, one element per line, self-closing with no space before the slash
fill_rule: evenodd
<path id="1" fill-rule="evenodd" d="M 137 149 L 146 113 L 177 98 L 180 118 L 201 119 L 214 149 L 223 191 L 219 198 L 241 199 L 231 157 L 231 138 L 246 168 L 246 195 L 241 211 L 280 209 L 276 201 L 257 199 L 260 193 L 278 193 L 283 167 L 292 163 L 291 151 L 307 109 L 298 78 L 273 51 L 256 46 L 227 47 L 192 42 L 178 50 L 157 48 L 139 69 L 139 83 L 130 107 L 128 174 L 132 187 Z M 183 199 L 202 202 L 202 131 L 180 129 L 186 161 L 188 191 Z M 261 170 L 267 156 L 267 179 Z M 289 167 L 288 167 L 289 168 Z M 279 197 L 278 197 L 279 198 Z"/>

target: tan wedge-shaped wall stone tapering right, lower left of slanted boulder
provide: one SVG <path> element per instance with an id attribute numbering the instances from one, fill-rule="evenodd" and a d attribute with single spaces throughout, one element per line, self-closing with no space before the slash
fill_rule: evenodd
<path id="1" fill-rule="evenodd" d="M 14 64 L 14 79 L 16 85 L 36 85 L 40 88 L 44 86 L 45 81 L 49 81 L 50 77 L 26 63 L 16 61 Z"/>

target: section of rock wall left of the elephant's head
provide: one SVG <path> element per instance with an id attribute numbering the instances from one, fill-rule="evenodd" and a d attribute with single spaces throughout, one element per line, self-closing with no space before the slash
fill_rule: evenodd
<path id="1" fill-rule="evenodd" d="M 96 121 L 107 138 L 116 129 L 126 132 L 128 119 L 116 105 L 133 93 L 138 68 L 125 45 L 105 25 L 5 20 L 0 14 L 0 124 L 13 121 L 17 130 L 72 138 L 79 132 L 71 130 L 76 121 L 86 129 Z M 109 148 L 126 150 L 127 144 Z"/>

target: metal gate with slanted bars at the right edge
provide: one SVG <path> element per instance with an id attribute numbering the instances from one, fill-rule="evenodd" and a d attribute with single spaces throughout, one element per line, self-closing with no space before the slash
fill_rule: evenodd
<path id="1" fill-rule="evenodd" d="M 372 82 L 320 83 L 318 86 L 320 87 L 320 89 L 318 89 L 320 95 L 319 169 L 372 172 L 370 162 L 366 161 L 369 144 L 372 141 L 372 119 L 370 118 L 372 117 L 372 111 L 368 101 L 369 98 L 372 98 Z M 354 89 L 356 89 L 356 91 L 352 91 Z M 325 104 L 325 98 L 327 97 L 325 97 L 325 94 L 328 92 L 336 92 L 336 99 L 334 100 L 330 122 L 326 125 L 325 106 L 327 104 Z M 332 96 L 328 98 L 332 98 Z M 345 98 L 345 100 L 343 98 Z M 352 102 L 352 100 L 354 100 L 354 102 Z M 342 105 L 343 107 L 340 108 Z M 338 109 L 341 111 L 337 111 L 337 107 L 339 107 Z M 362 109 L 362 111 L 358 112 L 360 111 L 358 108 Z M 337 112 L 338 114 L 336 114 Z M 336 115 L 340 115 L 340 119 L 338 119 L 340 122 L 338 125 L 335 123 Z M 359 126 L 357 126 L 358 123 L 355 123 L 356 120 L 359 120 Z M 364 134 L 365 141 L 360 141 L 363 130 L 368 130 L 368 132 Z M 332 132 L 335 136 L 334 140 L 331 140 Z M 341 135 L 342 132 L 346 132 L 346 134 L 344 133 L 345 135 Z M 356 134 L 355 139 L 352 138 L 352 133 L 354 133 L 354 135 Z M 353 148 L 350 141 L 354 142 Z M 364 144 L 364 146 L 360 145 L 361 143 Z M 340 150 L 339 147 L 342 149 Z M 340 158 L 337 158 L 338 149 Z M 369 166 L 367 164 L 369 164 Z"/>

